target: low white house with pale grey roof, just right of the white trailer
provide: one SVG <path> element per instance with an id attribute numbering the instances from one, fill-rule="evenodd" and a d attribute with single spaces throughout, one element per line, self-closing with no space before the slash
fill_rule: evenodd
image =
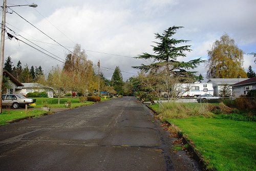
<path id="1" fill-rule="evenodd" d="M 245 81 L 247 79 L 248 78 L 210 78 L 207 82 L 212 83 L 212 87 L 214 89 L 214 96 L 219 96 L 220 91 L 223 90 L 224 87 L 228 86 L 230 89 L 230 93 L 232 93 L 232 88 L 230 87 L 232 84 L 236 84 L 240 81 Z"/>

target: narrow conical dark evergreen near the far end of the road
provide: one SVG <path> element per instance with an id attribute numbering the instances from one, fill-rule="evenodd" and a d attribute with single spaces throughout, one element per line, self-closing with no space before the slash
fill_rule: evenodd
<path id="1" fill-rule="evenodd" d="M 116 67 L 112 76 L 112 86 L 119 95 L 123 95 L 124 93 L 123 84 L 123 76 L 121 74 L 121 71 L 119 67 Z"/>

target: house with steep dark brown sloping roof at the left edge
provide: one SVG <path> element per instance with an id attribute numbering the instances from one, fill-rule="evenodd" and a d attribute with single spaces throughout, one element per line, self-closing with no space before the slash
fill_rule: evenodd
<path id="1" fill-rule="evenodd" d="M 8 71 L 3 72 L 4 76 L 8 77 L 8 88 L 3 90 L 3 93 L 6 94 L 14 94 L 16 92 L 17 87 L 23 87 L 24 85 L 19 82 L 13 75 L 11 75 Z"/>

